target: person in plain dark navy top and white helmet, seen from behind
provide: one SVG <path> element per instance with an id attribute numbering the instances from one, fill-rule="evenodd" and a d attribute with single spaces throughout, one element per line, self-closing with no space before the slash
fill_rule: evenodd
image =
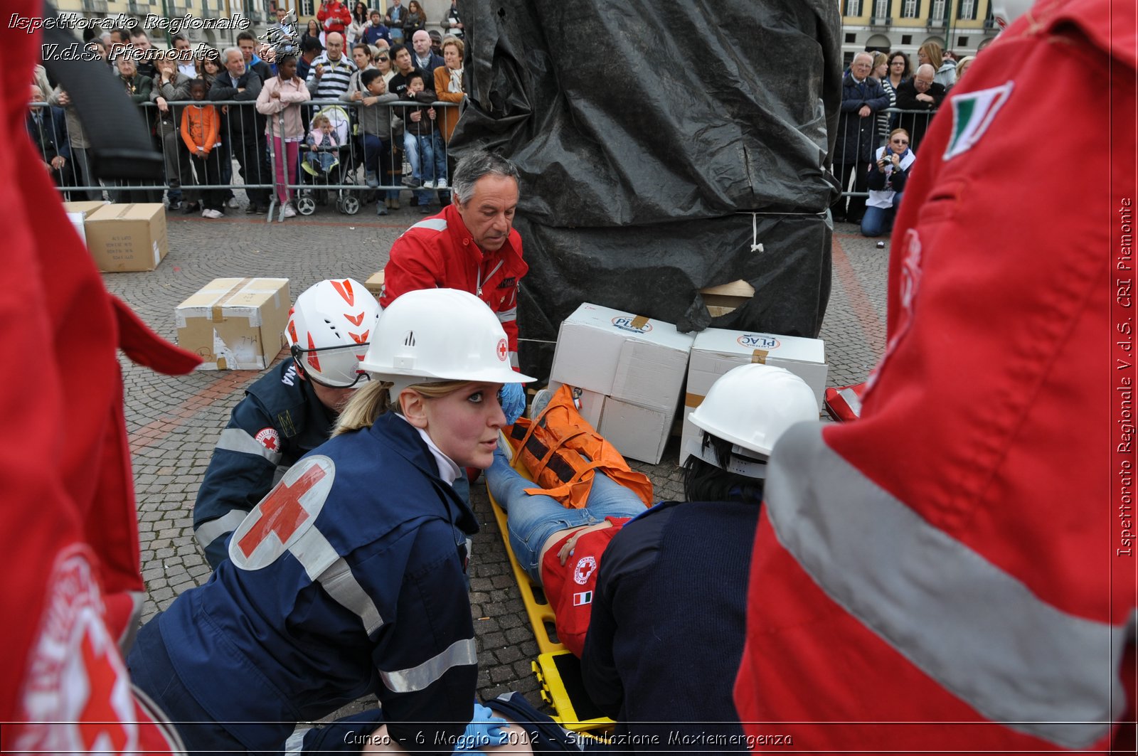
<path id="1" fill-rule="evenodd" d="M 791 425 L 817 422 L 818 404 L 793 373 L 747 364 L 690 417 L 703 430 L 685 466 L 690 503 L 657 504 L 612 539 L 589 597 L 582 672 L 618 738 L 747 750 L 732 685 L 767 458 Z"/>

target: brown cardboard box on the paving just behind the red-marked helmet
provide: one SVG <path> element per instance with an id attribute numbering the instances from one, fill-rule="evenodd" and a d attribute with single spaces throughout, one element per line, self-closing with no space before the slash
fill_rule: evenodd
<path id="1" fill-rule="evenodd" d="M 178 305 L 178 345 L 199 370 L 263 370 L 286 345 L 287 278 L 217 278 Z"/>

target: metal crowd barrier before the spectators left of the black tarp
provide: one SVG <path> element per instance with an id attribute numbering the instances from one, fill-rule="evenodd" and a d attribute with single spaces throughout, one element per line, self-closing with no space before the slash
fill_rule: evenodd
<path id="1" fill-rule="evenodd" d="M 181 116 L 189 105 L 201 105 L 193 100 L 167 102 L 167 113 L 162 114 L 154 102 L 140 104 L 147 122 L 151 125 L 155 148 L 162 151 L 166 171 L 163 183 L 102 183 L 97 181 L 89 170 L 84 150 L 82 130 L 72 130 L 66 109 L 49 106 L 48 102 L 33 102 L 32 115 L 28 116 L 30 131 L 33 139 L 41 146 L 46 142 L 66 145 L 65 164 L 59 170 L 52 170 L 51 175 L 58 190 L 66 199 L 110 199 L 112 202 L 163 202 L 163 194 L 181 192 L 181 202 L 201 202 L 204 192 L 225 192 L 232 196 L 233 190 L 244 190 L 250 203 L 267 207 L 267 221 L 274 215 L 283 220 L 281 197 L 294 202 L 302 214 L 311 214 L 318 205 L 328 204 L 345 214 L 354 215 L 371 200 L 382 203 L 385 197 L 398 197 L 403 190 L 417 194 L 419 203 L 429 200 L 446 202 L 444 196 L 434 192 L 448 191 L 450 161 L 446 143 L 443 139 L 442 124 L 444 113 L 457 106 L 455 102 L 434 102 L 426 106 L 421 102 L 394 101 L 374 105 L 373 108 L 385 108 L 393 116 L 393 138 L 389 140 L 368 139 L 361 125 L 360 110 L 365 106 L 361 102 L 345 100 L 312 100 L 300 104 L 304 132 L 298 143 L 297 161 L 289 170 L 288 142 L 283 157 L 278 158 L 280 150 L 277 140 L 265 134 L 269 118 L 278 123 L 283 116 L 265 116 L 256 110 L 255 101 L 205 101 L 218 112 L 223 108 L 225 117 L 221 118 L 222 130 L 218 134 L 221 147 L 215 147 L 208 158 L 195 158 L 181 134 Z M 434 107 L 436 126 L 434 137 L 411 142 L 406 139 L 407 124 L 413 124 L 412 113 L 419 108 Z M 34 113 L 39 110 L 40 118 Z M 311 129 L 312 117 L 316 113 L 330 116 L 333 131 L 337 133 L 335 148 L 311 149 L 305 138 Z M 218 113 L 221 115 L 221 113 Z M 381 116 L 382 117 L 382 116 Z M 423 117 L 427 117 L 423 115 Z M 413 129 L 413 128 L 412 128 Z M 379 142 L 378 145 L 376 142 Z M 426 143 L 424 143 L 426 142 Z M 411 149 L 415 153 L 412 154 Z M 424 163 L 419 153 L 422 147 L 432 153 L 431 170 L 423 173 Z M 436 148 L 442 157 L 435 158 Z M 49 150 L 50 151 L 50 150 Z M 69 159 L 68 159 L 69 158 Z M 305 170 L 305 165 L 310 170 Z M 376 169 L 374 186 L 369 186 L 368 167 Z M 418 171 L 412 171 L 412 166 Z M 419 176 L 428 176 L 434 186 L 421 186 Z M 178 195 L 174 194 L 176 197 Z"/>

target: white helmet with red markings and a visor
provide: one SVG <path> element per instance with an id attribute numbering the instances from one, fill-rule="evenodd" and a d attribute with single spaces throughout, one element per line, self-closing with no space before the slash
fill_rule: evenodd
<path id="1" fill-rule="evenodd" d="M 296 298 L 289 312 L 292 359 L 315 383 L 332 388 L 358 387 L 360 370 L 381 312 L 376 297 L 351 278 L 321 281 Z"/>

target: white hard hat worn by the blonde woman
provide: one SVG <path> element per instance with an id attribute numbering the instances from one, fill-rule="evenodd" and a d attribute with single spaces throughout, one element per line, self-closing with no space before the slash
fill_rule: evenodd
<path id="1" fill-rule="evenodd" d="M 534 380 L 510 367 L 510 350 L 497 315 L 459 289 L 419 289 L 384 311 L 360 367 L 394 385 L 396 397 L 413 384 Z"/>

